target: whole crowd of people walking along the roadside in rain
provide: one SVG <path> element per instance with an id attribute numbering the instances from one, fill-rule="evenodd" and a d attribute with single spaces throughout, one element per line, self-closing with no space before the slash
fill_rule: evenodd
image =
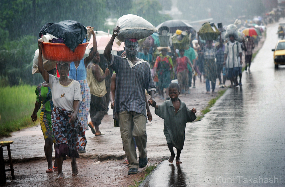
<path id="1" fill-rule="evenodd" d="M 46 172 L 58 171 L 57 179 L 63 178 L 62 163 L 66 156 L 72 159 L 72 175 L 78 174 L 76 158 L 79 158 L 78 153 L 86 152 L 85 132 L 90 128 L 95 136 L 104 135 L 99 125 L 108 112 L 110 101 L 114 127 L 120 128 L 129 164 L 128 174 L 136 174 L 138 168 L 148 163 L 146 123 L 152 120 L 149 105 L 155 107 L 155 113 L 165 120 L 164 134 L 171 152 L 169 162 L 174 160 L 175 147 L 176 163 L 182 163 L 180 153 L 185 139 L 185 125 L 196 119 L 196 109 L 188 109 L 178 96 L 190 94 L 190 88 L 196 88 L 197 78 L 205 83 L 206 93 L 215 92 L 217 79 L 221 86 L 226 80 L 231 82 L 229 87 L 242 86 L 242 54 L 244 51 L 245 70 L 250 71 L 256 41 L 251 36 L 241 42 L 234 35 L 225 39 L 221 32 L 216 41 L 201 40 L 199 32 L 189 30 L 186 32 L 194 36 L 186 47 L 176 48 L 173 44 L 165 47 L 144 46 L 134 38 L 127 38 L 125 51 L 118 56 L 111 51 L 119 32 L 120 28 L 115 27 L 104 54 L 99 54 L 96 35 L 91 30 L 93 48 L 89 55 L 71 63 L 57 62 L 56 68 L 51 71 L 44 69 L 43 41 L 38 40 L 38 69 L 45 82 L 36 88 L 37 99 L 31 117 L 33 121 L 37 120 L 36 113 L 42 105 L 40 124 L 48 162 Z M 148 101 L 145 90 L 150 95 Z M 157 105 L 155 96 L 166 101 Z M 89 122 L 88 114 L 91 118 Z M 171 126 L 172 123 L 175 127 Z M 139 149 L 138 161 L 136 147 Z"/>

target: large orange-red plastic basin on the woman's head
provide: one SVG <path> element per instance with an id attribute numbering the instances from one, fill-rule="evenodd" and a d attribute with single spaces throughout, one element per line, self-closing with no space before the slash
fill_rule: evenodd
<path id="1" fill-rule="evenodd" d="M 74 52 L 65 44 L 43 42 L 42 54 L 47 60 L 72 62 L 82 60 L 89 42 L 79 44 Z"/>

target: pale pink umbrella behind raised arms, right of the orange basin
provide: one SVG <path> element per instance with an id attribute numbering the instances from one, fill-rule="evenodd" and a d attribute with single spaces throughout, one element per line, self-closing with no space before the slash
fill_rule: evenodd
<path id="1" fill-rule="evenodd" d="M 97 40 L 97 50 L 105 50 L 108 42 L 110 41 L 112 35 L 103 35 L 103 36 L 96 36 Z M 121 46 L 113 42 L 112 50 L 115 51 L 123 51 L 125 46 L 125 42 L 121 43 Z M 91 49 L 93 47 L 93 38 L 90 38 L 89 44 L 87 45 L 88 49 Z"/>

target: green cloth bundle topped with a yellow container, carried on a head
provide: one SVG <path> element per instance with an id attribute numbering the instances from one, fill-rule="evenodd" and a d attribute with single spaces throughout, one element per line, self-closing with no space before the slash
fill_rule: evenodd
<path id="1" fill-rule="evenodd" d="M 181 30 L 176 30 L 176 33 L 171 36 L 172 44 L 176 49 L 185 49 L 190 44 L 191 36 L 188 36 L 188 33 Z"/>

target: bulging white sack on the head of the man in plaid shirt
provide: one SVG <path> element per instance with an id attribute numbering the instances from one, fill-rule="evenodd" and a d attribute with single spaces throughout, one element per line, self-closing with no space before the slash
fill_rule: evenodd
<path id="1" fill-rule="evenodd" d="M 127 38 L 143 39 L 156 32 L 157 29 L 151 23 L 140 16 L 128 14 L 120 17 L 116 23 L 120 27 L 115 42 L 121 45 Z"/>

